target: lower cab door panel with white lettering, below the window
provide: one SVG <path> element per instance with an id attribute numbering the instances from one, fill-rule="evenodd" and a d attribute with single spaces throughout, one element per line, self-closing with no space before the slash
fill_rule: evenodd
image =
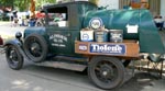
<path id="1" fill-rule="evenodd" d="M 48 45 L 53 54 L 69 55 L 72 53 L 72 32 L 67 27 L 48 27 Z"/>

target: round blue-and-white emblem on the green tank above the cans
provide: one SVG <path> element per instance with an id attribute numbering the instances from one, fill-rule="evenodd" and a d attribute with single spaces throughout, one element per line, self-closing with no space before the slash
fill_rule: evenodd
<path id="1" fill-rule="evenodd" d="M 103 23 L 102 23 L 102 20 L 100 18 L 92 18 L 90 21 L 89 21 L 89 26 L 92 27 L 92 29 L 99 29 L 100 26 L 102 26 Z"/>

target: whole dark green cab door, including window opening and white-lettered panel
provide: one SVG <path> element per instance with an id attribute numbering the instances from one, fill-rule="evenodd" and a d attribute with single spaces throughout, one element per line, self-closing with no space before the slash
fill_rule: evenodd
<path id="1" fill-rule="evenodd" d="M 69 30 L 69 7 L 54 5 L 46 9 L 47 39 L 53 54 L 69 55 L 72 53 L 72 32 Z"/>

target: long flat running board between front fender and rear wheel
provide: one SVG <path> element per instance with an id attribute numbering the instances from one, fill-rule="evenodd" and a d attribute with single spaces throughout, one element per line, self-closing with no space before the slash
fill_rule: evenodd
<path id="1" fill-rule="evenodd" d="M 69 62 L 64 62 L 64 61 L 43 61 L 43 62 L 38 62 L 35 65 L 44 66 L 44 67 L 68 69 L 68 70 L 74 70 L 74 71 L 84 71 L 87 67 L 86 65 L 69 64 Z"/>

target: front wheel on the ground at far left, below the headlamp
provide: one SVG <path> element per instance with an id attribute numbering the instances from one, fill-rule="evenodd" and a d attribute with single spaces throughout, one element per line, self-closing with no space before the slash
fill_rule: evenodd
<path id="1" fill-rule="evenodd" d="M 19 49 L 15 46 L 7 46 L 6 57 L 11 69 L 19 70 L 22 68 L 24 61 L 23 56 L 20 54 Z"/>

